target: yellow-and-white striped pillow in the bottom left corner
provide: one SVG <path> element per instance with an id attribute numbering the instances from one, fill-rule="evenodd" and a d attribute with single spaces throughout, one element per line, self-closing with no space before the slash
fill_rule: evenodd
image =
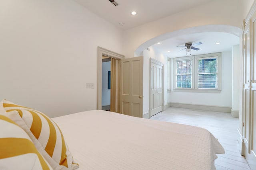
<path id="1" fill-rule="evenodd" d="M 0 170 L 52 170 L 14 121 L 0 115 Z"/>

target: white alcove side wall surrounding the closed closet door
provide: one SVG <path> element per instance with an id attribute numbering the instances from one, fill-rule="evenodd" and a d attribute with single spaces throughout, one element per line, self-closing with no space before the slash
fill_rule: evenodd
<path id="1" fill-rule="evenodd" d="M 150 58 L 164 63 L 164 80 L 167 80 L 167 57 L 153 46 L 143 51 L 143 113 L 150 111 Z M 164 105 L 168 103 L 167 82 L 164 81 Z"/>

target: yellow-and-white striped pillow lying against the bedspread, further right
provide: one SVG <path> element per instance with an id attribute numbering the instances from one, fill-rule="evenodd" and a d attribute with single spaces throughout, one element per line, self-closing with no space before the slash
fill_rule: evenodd
<path id="1" fill-rule="evenodd" d="M 39 152 L 54 170 L 74 170 L 74 162 L 60 128 L 44 113 L 7 100 L 0 102 L 5 115 L 26 131 Z M 1 110 L 1 109 L 0 109 Z"/>

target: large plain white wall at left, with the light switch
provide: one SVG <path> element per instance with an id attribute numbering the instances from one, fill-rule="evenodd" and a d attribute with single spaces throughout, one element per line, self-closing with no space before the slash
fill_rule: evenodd
<path id="1" fill-rule="evenodd" d="M 122 31 L 72 0 L 1 0 L 0 23 L 0 100 L 50 117 L 97 108 L 97 47 L 122 53 Z"/>

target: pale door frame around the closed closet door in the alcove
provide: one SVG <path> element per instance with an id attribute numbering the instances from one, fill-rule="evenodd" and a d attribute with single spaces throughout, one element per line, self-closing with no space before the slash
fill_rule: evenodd
<path id="1" fill-rule="evenodd" d="M 163 67 L 163 69 L 162 69 L 162 111 L 164 110 L 164 63 L 161 63 L 160 61 L 158 61 L 158 60 L 156 60 L 156 59 L 152 59 L 152 58 L 150 58 L 150 66 L 149 66 L 149 71 L 150 71 L 150 73 L 149 73 L 149 115 L 150 115 L 150 117 L 151 117 L 151 66 L 152 66 L 152 63 L 154 63 L 154 64 L 157 64 L 157 65 L 159 65 L 159 66 L 162 66 Z"/>

